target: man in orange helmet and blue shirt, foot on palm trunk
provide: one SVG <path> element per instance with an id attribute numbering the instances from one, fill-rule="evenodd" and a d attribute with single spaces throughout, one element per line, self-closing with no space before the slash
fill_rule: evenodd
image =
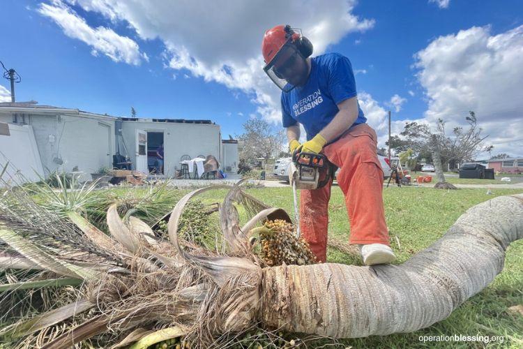
<path id="1" fill-rule="evenodd" d="M 350 243 L 358 244 L 365 265 L 392 262 L 385 223 L 384 174 L 377 159 L 377 135 L 358 105 L 351 63 L 341 54 L 310 58 L 312 44 L 290 26 L 266 31 L 265 72 L 282 89 L 282 124 L 289 149 L 319 154 L 340 168 L 338 184 L 351 223 Z M 300 144 L 300 126 L 307 142 Z M 320 262 L 326 261 L 328 201 L 332 180 L 302 190 L 300 227 Z"/>

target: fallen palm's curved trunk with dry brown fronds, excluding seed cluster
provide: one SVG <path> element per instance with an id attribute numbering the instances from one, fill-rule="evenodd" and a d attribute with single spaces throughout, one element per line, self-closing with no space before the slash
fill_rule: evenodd
<path id="1" fill-rule="evenodd" d="M 13 211 L 21 209 L 16 200 L 8 203 L 7 209 L 0 205 L 0 221 L 8 230 L 10 249 L 45 270 L 64 275 L 74 272 L 84 280 L 78 299 L 96 304 L 89 313 L 82 313 L 80 325 L 66 322 L 67 316 L 61 315 L 61 322 L 56 323 L 48 320 L 50 316 L 40 315 L 45 321 L 31 325 L 38 329 L 35 335 L 45 337 L 52 324 L 55 333 L 47 340 L 47 348 L 66 348 L 107 332 L 123 338 L 137 328 L 176 327 L 174 332 L 206 347 L 224 334 L 241 332 L 257 323 L 337 338 L 412 332 L 443 320 L 485 288 L 501 272 L 508 244 L 523 238 L 523 195 L 505 196 L 469 209 L 444 237 L 403 265 L 264 268 L 251 244 L 254 221 L 241 228 L 233 202 L 263 211 L 255 221 L 289 219 L 284 211 L 267 209 L 251 200 L 239 186 L 232 188 L 220 205 L 225 250 L 208 251 L 179 238 L 183 208 L 206 190 L 185 195 L 174 207 L 168 225 L 170 243 L 148 242 L 145 237 L 149 235 L 141 235 L 145 227 L 137 228 L 132 219 L 122 220 L 115 207 L 107 215 L 107 225 L 117 242 L 113 247 L 107 239 L 98 243 L 86 235 L 76 238 L 66 225 L 50 223 L 48 214 L 33 214 L 29 223 L 13 218 Z M 36 206 L 26 207 L 38 213 Z M 38 221 L 39 216 L 47 220 Z M 56 230 L 53 236 L 63 235 L 64 239 L 58 244 L 40 237 L 46 230 L 39 224 Z M 25 242 L 28 238 L 31 250 Z M 84 251 L 84 246 L 89 250 Z M 122 246 L 132 260 L 122 256 Z M 33 255 L 36 248 L 46 253 L 45 260 Z M 61 248 L 70 253 L 58 253 Z M 114 267 L 79 269 L 89 255 Z M 72 311 L 71 316 L 74 314 Z M 20 333 L 17 329 L 22 328 L 27 328 L 24 322 L 10 327 L 8 333 Z M 31 338 L 22 344 L 33 346 Z M 147 343 L 151 343 L 149 339 Z"/>

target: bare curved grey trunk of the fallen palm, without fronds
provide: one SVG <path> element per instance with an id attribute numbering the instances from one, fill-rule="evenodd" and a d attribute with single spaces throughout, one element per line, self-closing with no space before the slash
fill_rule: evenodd
<path id="1" fill-rule="evenodd" d="M 337 338 L 414 332 L 483 290 L 503 269 L 507 246 L 522 238 L 523 195 L 503 196 L 469 209 L 402 265 L 264 269 L 260 319 Z"/>

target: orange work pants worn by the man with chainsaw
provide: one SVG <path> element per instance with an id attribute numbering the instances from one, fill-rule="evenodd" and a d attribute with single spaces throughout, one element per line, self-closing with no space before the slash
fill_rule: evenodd
<path id="1" fill-rule="evenodd" d="M 345 197 L 350 221 L 350 244 L 390 246 L 383 203 L 384 173 L 377 158 L 377 135 L 359 124 L 324 147 L 324 155 L 338 166 L 338 185 Z M 327 258 L 328 201 L 332 181 L 323 188 L 301 190 L 301 235 L 319 262 Z"/>

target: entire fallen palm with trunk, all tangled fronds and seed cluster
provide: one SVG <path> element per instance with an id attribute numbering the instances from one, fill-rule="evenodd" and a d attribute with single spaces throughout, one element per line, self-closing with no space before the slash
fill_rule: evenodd
<path id="1" fill-rule="evenodd" d="M 0 343 L 147 348 L 183 337 L 191 348 L 223 348 L 257 326 L 335 338 L 413 332 L 485 288 L 503 269 L 510 242 L 523 238 L 523 195 L 504 196 L 469 209 L 402 265 L 306 265 L 312 253 L 287 213 L 241 184 L 212 187 L 230 188 L 218 206 L 222 244 L 215 248 L 180 232 L 184 209 L 211 187 L 176 203 L 162 239 L 121 200 L 107 207 L 105 232 L 82 214 L 83 189 L 53 191 L 47 206 L 9 190 L 0 200 L 0 273 L 17 272 L 0 278 Z M 236 205 L 257 214 L 240 226 Z M 259 222 L 266 223 L 254 228 Z M 31 295 L 50 287 L 52 302 L 34 309 Z"/>

